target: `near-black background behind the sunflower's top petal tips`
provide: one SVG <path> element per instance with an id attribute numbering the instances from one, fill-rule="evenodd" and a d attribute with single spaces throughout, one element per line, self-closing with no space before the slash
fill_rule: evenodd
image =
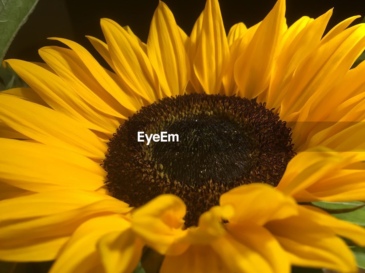
<path id="1" fill-rule="evenodd" d="M 205 0 L 165 0 L 165 3 L 174 13 L 177 24 L 189 35 L 204 9 Z M 247 27 L 258 23 L 275 3 L 276 0 L 220 0 L 226 31 L 240 21 Z M 142 41 L 146 41 L 157 5 L 158 0 L 39 0 L 34 12 L 16 35 L 5 59 L 40 62 L 39 48 L 62 45 L 46 38 L 62 37 L 77 41 L 105 64 L 85 35 L 104 40 L 99 23 L 100 18 L 107 17 L 122 26 L 129 25 Z M 365 16 L 365 0 L 287 0 L 287 23 L 292 24 L 304 15 L 318 17 L 333 7 L 334 14 L 328 27 L 353 15 Z M 355 23 L 360 21 L 357 19 Z"/>

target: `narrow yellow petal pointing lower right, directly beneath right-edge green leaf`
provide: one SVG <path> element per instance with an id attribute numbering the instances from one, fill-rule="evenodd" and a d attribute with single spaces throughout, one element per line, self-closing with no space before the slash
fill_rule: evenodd
<path id="1" fill-rule="evenodd" d="M 365 245 L 365 229 L 363 227 L 339 220 L 314 206 L 299 206 L 299 212 L 300 215 L 310 218 L 318 225 L 329 227 L 339 236 L 348 238 L 360 246 Z"/>

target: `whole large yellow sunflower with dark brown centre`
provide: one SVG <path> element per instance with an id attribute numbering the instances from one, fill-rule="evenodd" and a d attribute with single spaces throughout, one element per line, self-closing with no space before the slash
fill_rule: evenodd
<path id="1" fill-rule="evenodd" d="M 30 86 L 0 96 L 0 259 L 51 273 L 356 272 L 365 230 L 313 201 L 365 199 L 365 25 L 332 10 L 290 27 L 279 0 L 224 30 L 208 0 L 187 36 L 160 2 L 147 44 L 101 19 L 107 43 L 6 62 Z M 178 142 L 138 141 L 138 132 Z"/>

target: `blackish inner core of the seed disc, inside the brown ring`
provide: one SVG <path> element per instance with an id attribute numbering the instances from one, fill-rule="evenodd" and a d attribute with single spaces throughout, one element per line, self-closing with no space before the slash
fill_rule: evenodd
<path id="1" fill-rule="evenodd" d="M 254 143 L 239 126 L 211 115 L 185 116 L 165 126 L 179 142 L 156 142 L 152 159 L 164 172 L 190 186 L 229 183 L 249 169 Z"/>

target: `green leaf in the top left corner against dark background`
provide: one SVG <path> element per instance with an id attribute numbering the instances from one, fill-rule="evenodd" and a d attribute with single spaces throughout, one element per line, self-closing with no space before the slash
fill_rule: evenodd
<path id="1" fill-rule="evenodd" d="M 0 62 L 19 28 L 27 21 L 38 0 L 0 1 Z"/>

